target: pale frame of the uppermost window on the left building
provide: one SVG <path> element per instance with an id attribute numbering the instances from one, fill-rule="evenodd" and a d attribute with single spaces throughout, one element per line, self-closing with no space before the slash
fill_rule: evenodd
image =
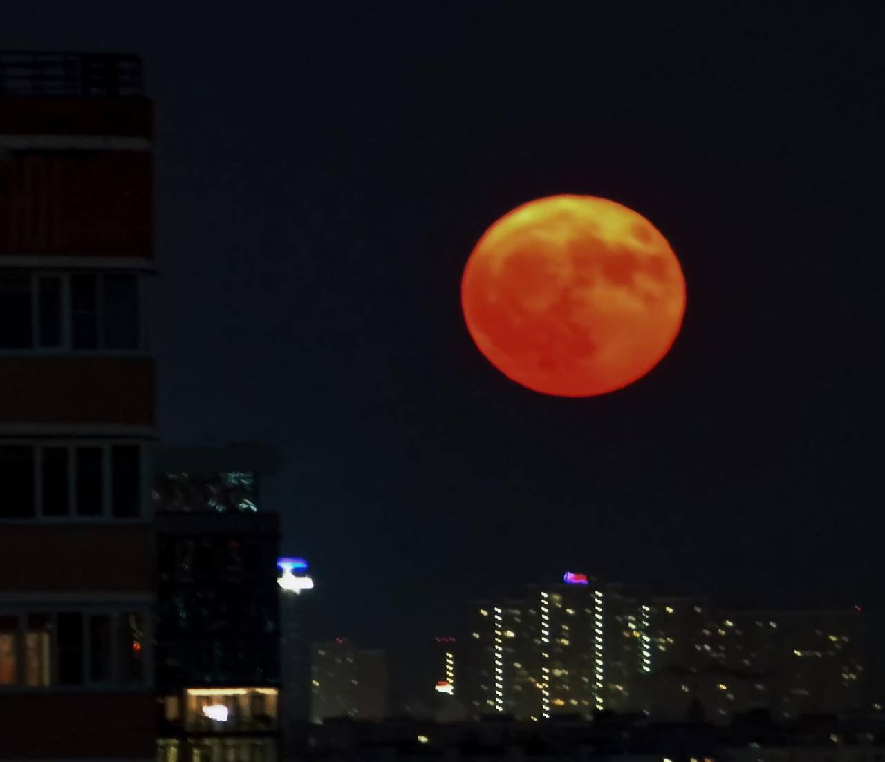
<path id="1" fill-rule="evenodd" d="M 10 268 L 9 272 L 15 272 L 19 268 Z M 31 293 L 31 346 L 30 347 L 0 347 L 0 357 L 20 356 L 22 354 L 35 354 L 38 356 L 73 355 L 77 357 L 89 355 L 101 356 L 143 356 L 149 354 L 148 350 L 148 325 L 147 325 L 147 289 L 144 274 L 134 270 L 59 270 L 58 268 L 45 268 L 27 271 L 30 277 Z M 73 346 L 73 300 L 71 280 L 74 276 L 89 275 L 98 281 L 96 288 L 96 331 L 98 347 L 78 349 Z M 104 343 L 104 287 L 102 278 L 105 276 L 127 275 L 135 278 L 135 290 L 138 299 L 138 323 L 136 331 L 138 346 L 125 349 L 108 349 L 102 347 Z M 59 278 L 61 283 L 60 293 L 60 344 L 58 347 L 42 347 L 40 327 L 40 281 L 41 278 Z"/>

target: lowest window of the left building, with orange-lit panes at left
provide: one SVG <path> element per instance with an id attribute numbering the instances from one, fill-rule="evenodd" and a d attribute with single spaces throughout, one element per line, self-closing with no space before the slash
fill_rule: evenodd
<path id="1" fill-rule="evenodd" d="M 145 685 L 145 622 L 142 611 L 104 607 L 0 612 L 0 690 L 19 685 Z"/>

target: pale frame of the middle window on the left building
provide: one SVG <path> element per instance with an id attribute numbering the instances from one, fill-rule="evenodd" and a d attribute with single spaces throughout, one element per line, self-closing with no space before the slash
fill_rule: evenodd
<path id="1" fill-rule="evenodd" d="M 144 439 L 133 438 L 0 438 L 0 446 L 29 446 L 33 453 L 34 513 L 29 516 L 0 515 L 3 524 L 34 523 L 143 523 L 150 521 L 150 448 Z M 132 516 L 113 512 L 113 448 L 138 448 L 139 484 L 138 513 Z M 77 506 L 77 449 L 99 447 L 102 451 L 102 507 L 97 514 L 79 514 Z M 43 457 L 48 448 L 67 451 L 67 508 L 66 515 L 46 515 L 43 504 Z"/>

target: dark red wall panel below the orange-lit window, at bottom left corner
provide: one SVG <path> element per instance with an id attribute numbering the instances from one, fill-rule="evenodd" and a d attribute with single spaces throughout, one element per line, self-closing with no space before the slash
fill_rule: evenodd
<path id="1" fill-rule="evenodd" d="M 0 693 L 0 759 L 152 759 L 150 693 Z"/>

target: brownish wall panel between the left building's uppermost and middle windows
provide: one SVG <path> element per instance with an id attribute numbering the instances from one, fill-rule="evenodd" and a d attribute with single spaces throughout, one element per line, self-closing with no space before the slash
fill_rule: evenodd
<path id="1" fill-rule="evenodd" d="M 0 357 L 0 427 L 152 427 L 154 383 L 147 357 Z"/>

